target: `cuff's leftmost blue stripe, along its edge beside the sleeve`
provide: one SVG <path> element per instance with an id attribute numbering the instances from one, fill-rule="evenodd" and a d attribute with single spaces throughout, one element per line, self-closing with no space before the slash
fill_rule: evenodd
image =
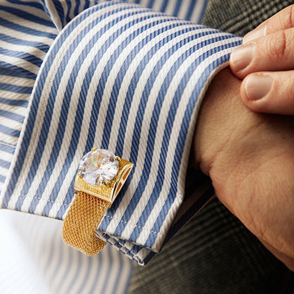
<path id="1" fill-rule="evenodd" d="M 96 6 L 93 9 L 96 8 L 98 10 L 98 9 L 101 9 L 103 7 L 106 7 L 106 6 L 108 6 L 108 5 L 105 4 L 105 5 L 101 5 L 101 6 Z M 78 23 L 79 23 L 79 21 L 81 19 L 84 19 L 88 15 L 90 15 L 90 11 L 92 11 L 93 9 L 91 9 L 91 10 L 89 9 L 87 11 L 87 13 L 82 14 L 82 17 L 74 19 L 70 23 L 70 25 L 68 26 L 68 30 L 71 31 L 73 28 L 75 28 L 78 25 Z M 96 10 L 94 10 L 94 11 L 96 11 Z M 34 124 L 35 124 L 36 114 L 37 114 L 37 111 L 38 111 L 39 100 L 41 98 L 41 92 L 42 92 L 42 88 L 44 86 L 44 83 L 45 83 L 45 80 L 46 80 L 46 77 L 47 77 L 47 73 L 48 73 L 48 71 L 50 69 L 50 66 L 51 66 L 51 64 L 52 64 L 52 62 L 54 60 L 54 57 L 55 57 L 57 51 L 59 50 L 62 43 L 65 41 L 66 37 L 67 36 L 65 34 L 60 35 L 60 38 L 56 42 L 56 46 L 53 47 L 53 50 L 51 51 L 51 54 L 48 55 L 47 62 L 44 64 L 44 69 L 43 69 L 42 73 L 40 74 L 39 83 L 36 86 L 36 91 L 35 91 L 34 97 L 32 99 L 32 104 L 31 104 L 31 109 L 30 109 L 28 121 L 27 121 L 27 128 L 26 128 L 26 131 L 25 131 L 25 134 L 24 134 L 24 139 L 21 142 L 21 150 L 26 150 L 27 151 L 27 149 L 28 149 L 31 134 L 32 134 Z M 17 161 L 19 162 L 19 164 L 14 166 L 14 170 L 12 172 L 11 180 L 10 180 L 11 185 L 8 186 L 8 188 L 6 190 L 6 193 L 4 195 L 2 205 L 1 205 L 2 208 L 7 208 L 9 199 L 10 199 L 12 193 L 13 193 L 13 190 L 14 190 L 13 187 L 15 186 L 15 184 L 17 182 L 17 179 L 18 179 L 19 174 L 21 172 L 25 157 L 26 157 L 26 152 L 20 152 L 18 154 Z M 24 187 L 24 188 L 26 188 L 26 187 Z M 23 198 L 22 201 L 24 200 L 24 196 L 19 196 L 19 197 Z M 18 202 L 19 201 L 20 200 L 18 200 Z M 19 205 L 20 205 L 20 203 L 18 203 L 18 206 Z"/>

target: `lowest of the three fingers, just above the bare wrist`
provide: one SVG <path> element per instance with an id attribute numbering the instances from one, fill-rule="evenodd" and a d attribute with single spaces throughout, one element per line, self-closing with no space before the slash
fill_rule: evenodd
<path id="1" fill-rule="evenodd" d="M 294 115 L 294 71 L 250 74 L 241 83 L 240 95 L 254 111 Z"/>

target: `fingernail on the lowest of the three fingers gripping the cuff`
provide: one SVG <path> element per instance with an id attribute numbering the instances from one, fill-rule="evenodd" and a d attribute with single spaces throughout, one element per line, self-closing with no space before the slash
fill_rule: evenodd
<path id="1" fill-rule="evenodd" d="M 263 98 L 271 89 L 273 78 L 271 76 L 260 76 L 253 74 L 249 76 L 245 90 L 249 100 Z"/>

